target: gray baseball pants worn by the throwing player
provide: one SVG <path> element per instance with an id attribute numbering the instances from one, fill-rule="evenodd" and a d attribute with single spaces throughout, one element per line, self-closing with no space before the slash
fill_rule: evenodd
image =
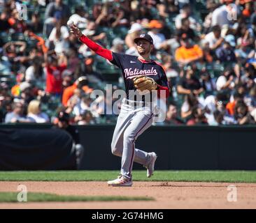
<path id="1" fill-rule="evenodd" d="M 128 104 L 127 104 L 128 103 Z M 113 155 L 122 157 L 121 174 L 131 178 L 133 162 L 148 164 L 148 153 L 135 148 L 135 141 L 152 124 L 154 112 L 151 106 L 143 106 L 134 101 L 122 100 L 120 114 L 115 126 L 111 151 Z"/>

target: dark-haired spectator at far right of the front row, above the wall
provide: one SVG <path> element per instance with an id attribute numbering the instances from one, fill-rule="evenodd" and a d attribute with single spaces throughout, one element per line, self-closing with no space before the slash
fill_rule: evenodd
<path id="1" fill-rule="evenodd" d="M 248 112 L 248 107 L 246 106 L 246 103 L 243 101 L 237 102 L 234 108 L 234 117 L 236 118 L 236 121 L 239 125 L 248 125 L 255 123 L 253 116 L 251 116 L 250 112 Z"/>

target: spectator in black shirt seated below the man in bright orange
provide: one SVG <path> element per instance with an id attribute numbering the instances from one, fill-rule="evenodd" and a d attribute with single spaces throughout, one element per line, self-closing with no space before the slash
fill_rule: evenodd
<path id="1" fill-rule="evenodd" d="M 199 79 L 195 77 L 194 70 L 192 68 L 187 68 L 185 71 L 185 77 L 180 78 L 180 81 L 177 84 L 177 91 L 180 94 L 190 95 L 199 95 L 204 91 L 204 88 L 201 86 Z"/>

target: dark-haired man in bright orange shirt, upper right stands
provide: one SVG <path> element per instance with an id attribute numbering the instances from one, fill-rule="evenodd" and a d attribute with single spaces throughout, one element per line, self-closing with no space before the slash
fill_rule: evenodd
<path id="1" fill-rule="evenodd" d="M 180 38 L 180 45 L 175 52 L 175 59 L 181 66 L 187 65 L 194 61 L 198 61 L 203 57 L 203 51 L 199 45 L 193 45 L 192 40 L 187 37 L 187 33 L 183 33 Z"/>

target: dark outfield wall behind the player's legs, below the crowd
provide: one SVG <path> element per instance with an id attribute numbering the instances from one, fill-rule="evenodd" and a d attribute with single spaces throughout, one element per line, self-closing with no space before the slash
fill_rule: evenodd
<path id="1" fill-rule="evenodd" d="M 6 128 L 45 128 L 50 125 L 0 125 Z M 114 125 L 78 126 L 85 157 L 80 169 L 119 169 L 111 154 Z M 136 148 L 155 151 L 157 169 L 256 169 L 255 126 L 152 126 Z M 0 148 L 1 154 L 1 148 Z M 134 164 L 134 169 L 143 169 Z"/>

